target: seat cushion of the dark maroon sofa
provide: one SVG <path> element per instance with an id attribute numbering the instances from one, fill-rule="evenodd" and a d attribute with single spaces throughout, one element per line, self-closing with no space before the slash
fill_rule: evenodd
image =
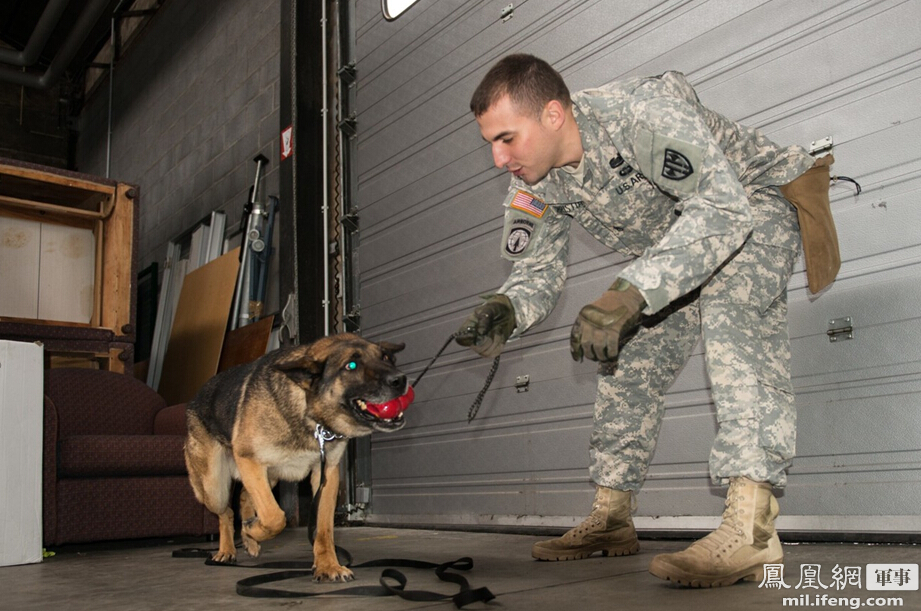
<path id="1" fill-rule="evenodd" d="M 185 475 L 181 435 L 74 435 L 61 440 L 60 477 Z"/>

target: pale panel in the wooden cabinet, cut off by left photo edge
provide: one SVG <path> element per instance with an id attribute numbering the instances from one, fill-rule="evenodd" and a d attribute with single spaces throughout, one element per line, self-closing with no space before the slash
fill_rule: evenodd
<path id="1" fill-rule="evenodd" d="M 38 317 L 41 223 L 0 216 L 0 316 Z"/>

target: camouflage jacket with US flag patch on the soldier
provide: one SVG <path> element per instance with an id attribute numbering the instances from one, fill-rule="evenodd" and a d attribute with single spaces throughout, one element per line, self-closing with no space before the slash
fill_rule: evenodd
<path id="1" fill-rule="evenodd" d="M 513 178 L 505 200 L 502 256 L 514 265 L 498 292 L 515 306 L 515 336 L 556 305 L 573 220 L 637 257 L 619 275 L 643 294 L 646 314 L 704 283 L 749 235 L 798 247 L 791 215 L 753 196 L 792 181 L 813 158 L 707 109 L 684 75 L 578 92 L 573 114 L 581 180 L 565 169 L 535 185 Z"/>

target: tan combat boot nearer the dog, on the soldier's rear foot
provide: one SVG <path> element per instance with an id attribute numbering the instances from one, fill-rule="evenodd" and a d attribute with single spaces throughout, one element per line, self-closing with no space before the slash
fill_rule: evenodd
<path id="1" fill-rule="evenodd" d="M 627 556 L 640 549 L 630 516 L 633 493 L 598 486 L 592 514 L 559 539 L 540 541 L 531 548 L 538 560 L 579 560 L 595 552 Z"/>

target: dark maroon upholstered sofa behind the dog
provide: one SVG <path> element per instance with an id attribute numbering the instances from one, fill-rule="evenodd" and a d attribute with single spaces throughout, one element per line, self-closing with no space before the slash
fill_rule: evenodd
<path id="1" fill-rule="evenodd" d="M 127 375 L 49 369 L 44 411 L 46 546 L 217 532 L 189 485 L 185 405 Z"/>

